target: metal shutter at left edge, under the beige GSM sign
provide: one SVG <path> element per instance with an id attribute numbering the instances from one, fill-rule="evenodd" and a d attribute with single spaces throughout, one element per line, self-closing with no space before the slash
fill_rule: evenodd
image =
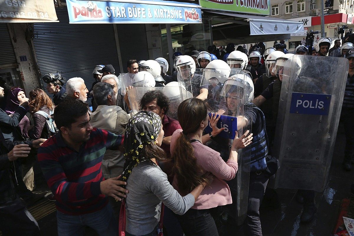
<path id="1" fill-rule="evenodd" d="M 16 55 L 6 23 L 0 23 L 0 48 L 0 68 L 4 65 L 17 67 Z"/>

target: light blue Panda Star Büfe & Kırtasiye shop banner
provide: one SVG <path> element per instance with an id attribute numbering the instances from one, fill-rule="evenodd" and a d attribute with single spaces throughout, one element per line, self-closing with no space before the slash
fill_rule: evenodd
<path id="1" fill-rule="evenodd" d="M 201 9 L 195 4 L 183 7 L 170 4 L 165 6 L 81 0 L 66 0 L 66 2 L 70 23 L 201 23 Z"/>

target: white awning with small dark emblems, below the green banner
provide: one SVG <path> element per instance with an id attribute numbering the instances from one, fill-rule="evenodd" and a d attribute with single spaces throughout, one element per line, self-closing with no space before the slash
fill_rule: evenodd
<path id="1" fill-rule="evenodd" d="M 287 21 L 279 18 L 234 14 L 230 12 L 204 11 L 219 14 L 235 19 L 222 18 L 225 22 L 250 25 L 250 35 L 297 34 L 304 32 L 304 25 L 298 21 Z"/>

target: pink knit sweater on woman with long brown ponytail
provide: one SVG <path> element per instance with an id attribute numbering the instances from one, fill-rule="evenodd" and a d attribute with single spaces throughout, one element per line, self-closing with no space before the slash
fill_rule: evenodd
<path id="1" fill-rule="evenodd" d="M 181 135 L 182 129 L 177 129 L 171 138 L 171 154 L 175 148 L 176 139 Z M 236 161 L 228 160 L 226 163 L 221 158 L 220 153 L 201 144 L 200 142 L 192 143 L 194 155 L 197 159 L 197 164 L 203 169 L 203 173 L 211 172 L 217 178 L 206 186 L 201 192 L 198 199 L 193 205 L 193 209 L 210 209 L 217 206 L 224 206 L 232 203 L 231 192 L 225 180 L 235 178 L 238 169 Z M 186 156 L 186 158 L 188 158 Z M 176 177 L 173 179 L 172 186 L 185 196 L 188 192 L 180 191 L 177 187 Z"/>

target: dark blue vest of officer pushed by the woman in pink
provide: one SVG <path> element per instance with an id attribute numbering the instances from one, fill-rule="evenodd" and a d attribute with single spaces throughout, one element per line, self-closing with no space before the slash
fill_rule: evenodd
<path id="1" fill-rule="evenodd" d="M 265 130 L 265 117 L 261 109 L 256 105 L 252 105 L 252 109 L 256 110 L 261 117 L 262 130 L 256 136 L 253 136 L 252 144 L 244 148 L 245 157 L 250 157 L 246 159 L 246 163 L 250 164 L 250 171 L 263 171 L 267 168 L 267 162 L 265 157 L 268 156 L 268 136 Z"/>

